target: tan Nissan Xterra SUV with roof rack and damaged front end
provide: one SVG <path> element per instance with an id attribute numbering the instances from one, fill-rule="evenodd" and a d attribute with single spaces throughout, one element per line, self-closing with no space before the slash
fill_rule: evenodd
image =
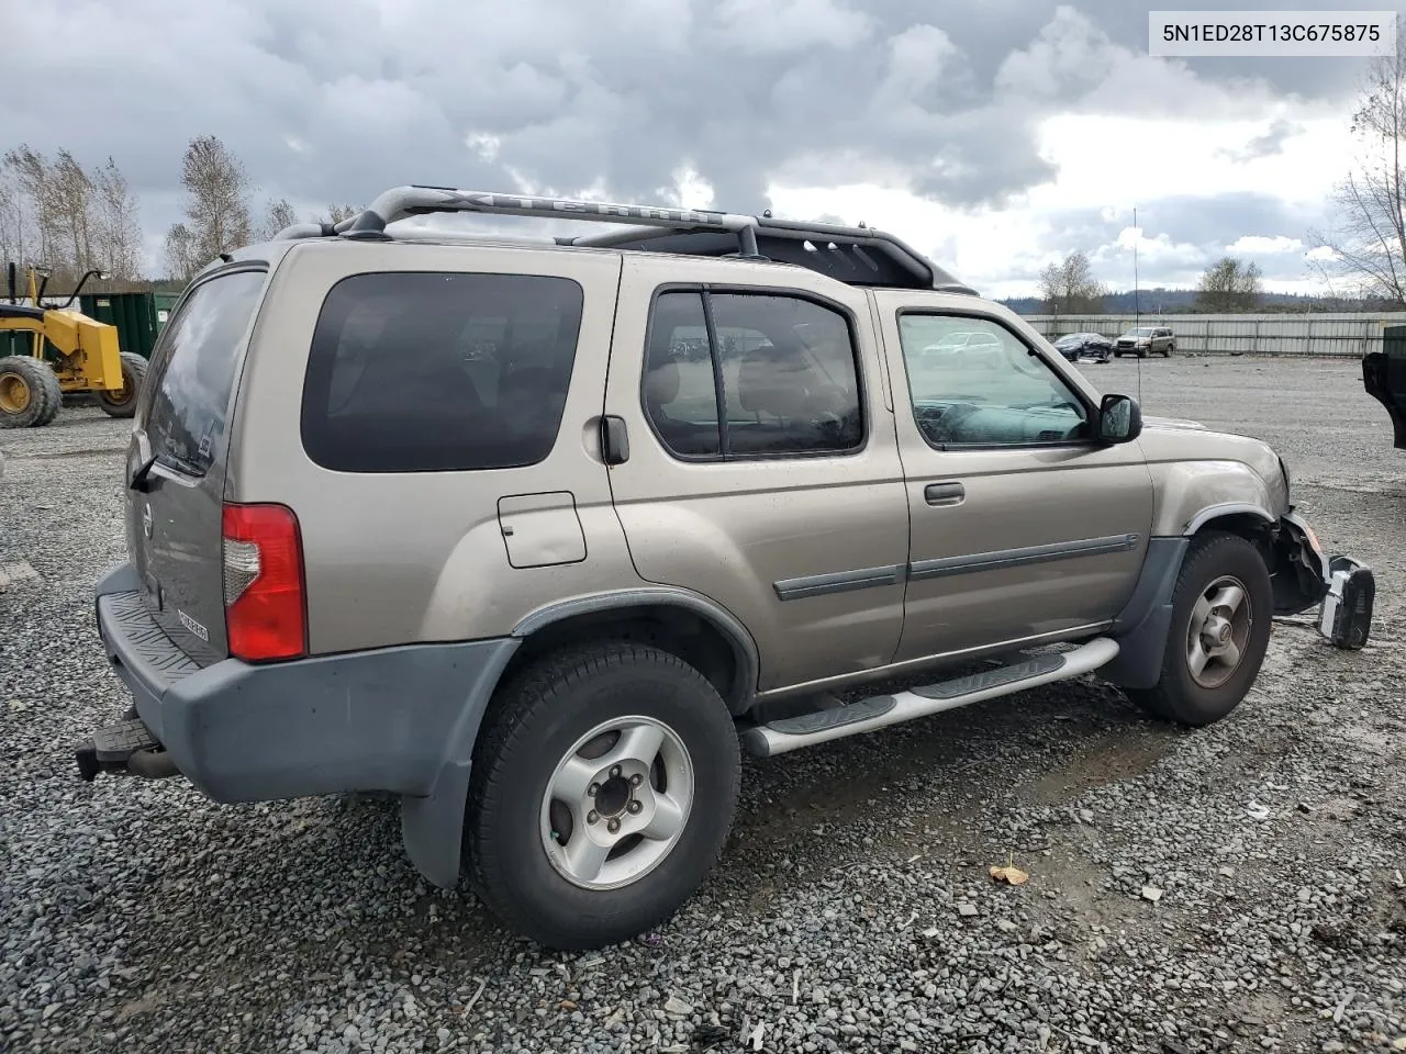
<path id="1" fill-rule="evenodd" d="M 610 226 L 395 228 L 461 211 Z M 740 746 L 1090 670 L 1201 725 L 1272 614 L 1371 621 L 1264 443 L 1144 420 L 865 226 L 392 190 L 191 282 L 125 471 L 96 614 L 135 705 L 84 779 L 392 793 L 429 881 L 554 947 L 690 897 Z"/>

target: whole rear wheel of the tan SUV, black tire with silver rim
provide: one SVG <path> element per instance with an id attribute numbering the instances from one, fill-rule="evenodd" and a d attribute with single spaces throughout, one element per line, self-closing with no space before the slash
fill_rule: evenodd
<path id="1" fill-rule="evenodd" d="M 702 885 L 740 779 L 727 705 L 678 656 L 636 644 L 548 656 L 505 686 L 474 750 L 470 884 L 546 947 L 628 940 Z"/>

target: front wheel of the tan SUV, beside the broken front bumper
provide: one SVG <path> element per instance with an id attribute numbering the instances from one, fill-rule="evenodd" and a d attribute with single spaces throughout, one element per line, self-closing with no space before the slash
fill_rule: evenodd
<path id="1" fill-rule="evenodd" d="M 1230 603 L 1236 593 L 1241 596 Z M 1274 590 L 1260 551 L 1237 534 L 1202 531 L 1177 576 L 1161 677 L 1152 689 L 1128 689 L 1128 697 L 1153 717 L 1182 725 L 1219 721 L 1260 675 L 1272 613 Z M 1198 649 L 1206 656 L 1199 672 Z"/>

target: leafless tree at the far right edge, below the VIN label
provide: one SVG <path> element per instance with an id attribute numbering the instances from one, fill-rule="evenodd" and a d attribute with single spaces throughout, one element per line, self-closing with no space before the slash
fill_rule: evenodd
<path id="1" fill-rule="evenodd" d="M 1372 60 L 1353 112 L 1360 149 L 1354 170 L 1333 191 L 1334 229 L 1310 232 L 1331 250 L 1317 261 L 1361 292 L 1406 304 L 1406 25 L 1398 17 L 1396 53 Z"/>

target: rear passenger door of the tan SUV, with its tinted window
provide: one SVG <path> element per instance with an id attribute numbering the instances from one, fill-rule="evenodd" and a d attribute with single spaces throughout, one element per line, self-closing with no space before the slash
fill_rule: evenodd
<path id="1" fill-rule="evenodd" d="M 627 256 L 606 413 L 630 437 L 610 486 L 636 569 L 747 625 L 762 690 L 893 658 L 908 512 L 863 292 Z"/>

